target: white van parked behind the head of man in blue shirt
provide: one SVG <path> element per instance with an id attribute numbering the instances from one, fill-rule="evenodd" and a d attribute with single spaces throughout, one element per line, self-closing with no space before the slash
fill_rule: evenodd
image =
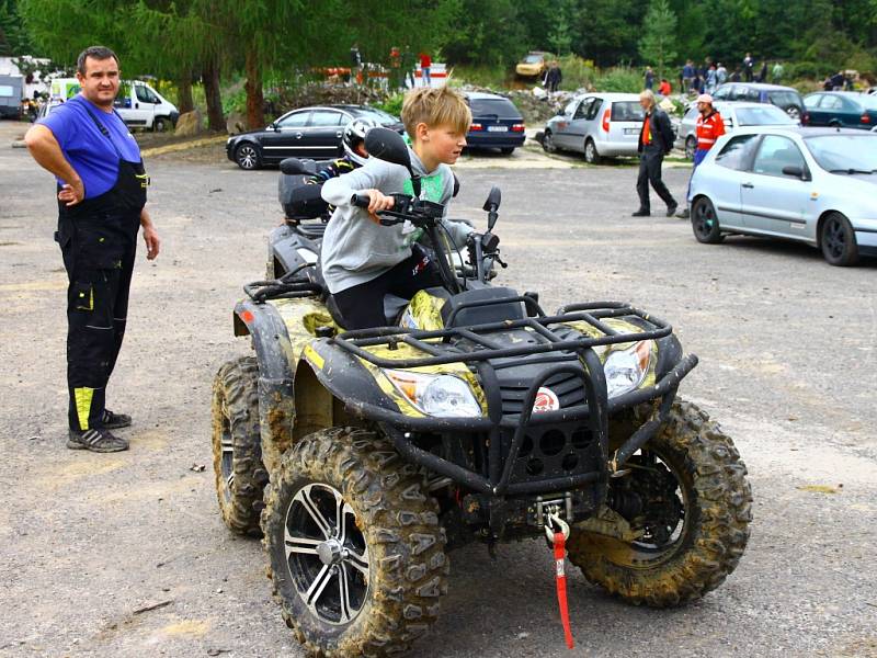
<path id="1" fill-rule="evenodd" d="M 57 78 L 52 81 L 50 100 L 66 101 L 80 91 L 76 78 Z M 118 87 L 115 107 L 128 127 L 147 128 L 161 133 L 176 125 L 180 112 L 159 92 L 139 80 L 123 80 Z"/>

